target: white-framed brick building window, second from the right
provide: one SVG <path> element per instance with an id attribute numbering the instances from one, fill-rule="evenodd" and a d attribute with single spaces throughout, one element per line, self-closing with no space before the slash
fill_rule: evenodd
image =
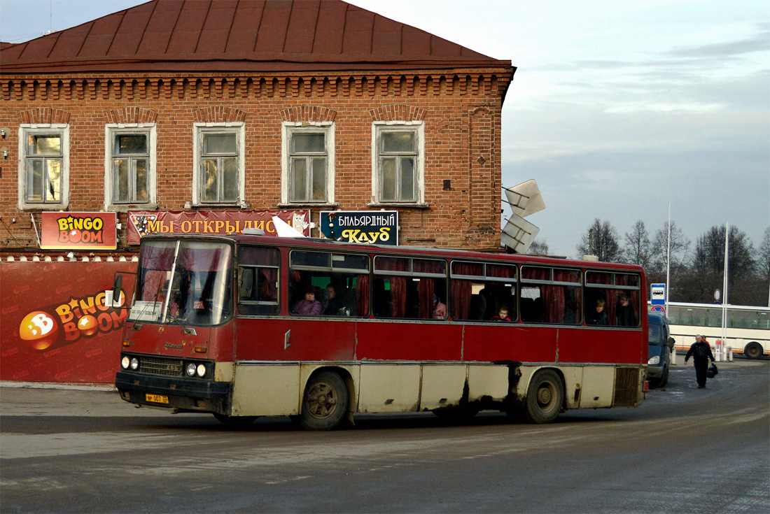
<path id="1" fill-rule="evenodd" d="M 283 127 L 282 203 L 333 203 L 334 124 Z"/>

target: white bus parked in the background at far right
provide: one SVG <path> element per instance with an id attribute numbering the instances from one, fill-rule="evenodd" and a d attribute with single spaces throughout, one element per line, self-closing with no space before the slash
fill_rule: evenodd
<path id="1" fill-rule="evenodd" d="M 666 317 L 677 350 L 690 349 L 696 334 L 705 335 L 712 347 L 722 339 L 722 305 L 668 302 Z M 770 355 L 770 308 L 728 305 L 725 346 L 748 359 Z"/>

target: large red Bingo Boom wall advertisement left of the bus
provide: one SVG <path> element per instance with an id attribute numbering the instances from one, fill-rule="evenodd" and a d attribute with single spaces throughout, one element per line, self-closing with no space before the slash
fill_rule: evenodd
<path id="1" fill-rule="evenodd" d="M 115 272 L 126 272 L 125 305 L 135 269 L 135 262 L 0 262 L 0 380 L 113 382 L 128 311 L 104 305 L 104 292 Z"/>

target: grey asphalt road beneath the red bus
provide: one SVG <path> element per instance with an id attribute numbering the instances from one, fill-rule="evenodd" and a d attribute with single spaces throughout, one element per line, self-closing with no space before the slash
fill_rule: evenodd
<path id="1" fill-rule="evenodd" d="M 0 388 L 0 512 L 770 512 L 770 362 L 638 409 L 228 429 L 105 390 Z M 8 384 L 5 384 L 6 386 Z"/>

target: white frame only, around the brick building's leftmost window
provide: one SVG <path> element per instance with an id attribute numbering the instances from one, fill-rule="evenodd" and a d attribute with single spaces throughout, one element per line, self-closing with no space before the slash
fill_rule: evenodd
<path id="1" fill-rule="evenodd" d="M 62 138 L 59 202 L 27 202 L 27 135 L 58 133 Z M 22 123 L 18 127 L 18 209 L 60 211 L 69 206 L 69 124 Z"/>

